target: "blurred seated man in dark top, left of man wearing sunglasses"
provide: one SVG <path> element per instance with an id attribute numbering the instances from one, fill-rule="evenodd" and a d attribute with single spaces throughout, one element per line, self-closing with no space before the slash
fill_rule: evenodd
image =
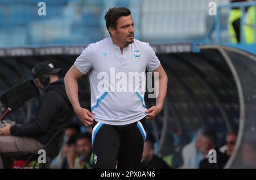
<path id="1" fill-rule="evenodd" d="M 204 129 L 203 132 L 199 132 L 196 139 L 196 148 L 200 154 L 204 156 L 203 160 L 200 161 L 200 169 L 220 169 L 224 167 L 226 162 L 226 156 L 222 154 L 216 148 L 217 136 L 216 133 L 208 129 Z M 209 150 L 216 150 L 216 163 L 209 162 Z"/>

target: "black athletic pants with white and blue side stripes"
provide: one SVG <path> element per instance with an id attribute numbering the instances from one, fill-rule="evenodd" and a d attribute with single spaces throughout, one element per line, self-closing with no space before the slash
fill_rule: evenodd
<path id="1" fill-rule="evenodd" d="M 139 168 L 146 138 L 144 121 L 127 125 L 94 122 L 92 143 L 95 167 Z"/>

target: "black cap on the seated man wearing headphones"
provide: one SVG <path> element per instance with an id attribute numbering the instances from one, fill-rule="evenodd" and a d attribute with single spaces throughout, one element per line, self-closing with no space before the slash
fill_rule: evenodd
<path id="1" fill-rule="evenodd" d="M 40 62 L 32 69 L 32 76 L 34 78 L 44 76 L 47 74 L 56 74 L 60 72 L 61 68 L 54 68 L 54 65 L 50 61 Z"/>

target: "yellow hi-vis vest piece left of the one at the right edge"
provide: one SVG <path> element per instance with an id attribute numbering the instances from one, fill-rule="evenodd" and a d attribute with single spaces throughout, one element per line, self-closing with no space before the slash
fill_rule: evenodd
<path id="1" fill-rule="evenodd" d="M 230 41 L 233 44 L 237 44 L 238 40 L 237 40 L 236 31 L 234 30 L 232 23 L 237 19 L 241 18 L 241 16 L 242 16 L 242 11 L 240 9 L 232 9 L 229 12 L 229 35 L 230 35 Z"/>

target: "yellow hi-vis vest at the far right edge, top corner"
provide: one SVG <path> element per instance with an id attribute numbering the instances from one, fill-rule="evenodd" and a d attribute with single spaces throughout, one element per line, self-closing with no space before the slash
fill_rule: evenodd
<path id="1" fill-rule="evenodd" d="M 245 42 L 247 44 L 253 44 L 254 43 L 254 23 L 255 23 L 255 7 L 251 6 L 249 7 L 244 23 L 244 34 L 245 34 Z"/>

